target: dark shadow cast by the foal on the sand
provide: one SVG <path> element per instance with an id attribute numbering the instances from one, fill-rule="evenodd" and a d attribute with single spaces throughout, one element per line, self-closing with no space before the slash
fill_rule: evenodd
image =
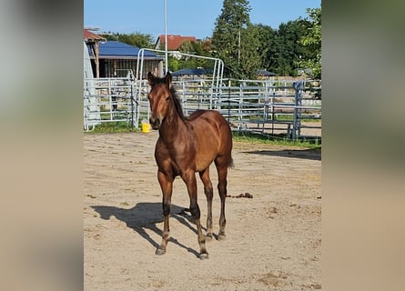
<path id="1" fill-rule="evenodd" d="M 159 243 L 147 234 L 147 229 L 154 231 L 158 236 L 162 236 L 163 231 L 157 227 L 157 223 L 163 221 L 161 203 L 138 203 L 136 206 L 127 209 L 116 206 L 91 206 L 100 215 L 102 219 L 109 220 L 111 216 L 127 224 L 128 227 L 135 230 L 139 236 L 145 238 L 152 246 L 156 248 Z M 188 213 L 185 207 L 171 205 L 170 217 L 177 219 L 182 225 L 187 226 L 197 235 L 197 229 L 194 225 L 194 219 Z M 198 252 L 190 247 L 184 246 L 176 238 L 170 237 L 169 242 L 187 249 L 189 253 L 199 256 Z"/>

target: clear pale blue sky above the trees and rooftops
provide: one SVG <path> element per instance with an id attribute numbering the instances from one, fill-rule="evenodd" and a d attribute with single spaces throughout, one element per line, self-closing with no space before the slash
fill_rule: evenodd
<path id="1" fill-rule="evenodd" d="M 166 0 L 167 35 L 212 35 L 223 0 Z M 308 17 L 306 8 L 321 0 L 249 0 L 250 22 L 278 29 L 281 23 Z M 165 0 L 84 0 L 84 26 L 121 34 L 165 34 Z"/>

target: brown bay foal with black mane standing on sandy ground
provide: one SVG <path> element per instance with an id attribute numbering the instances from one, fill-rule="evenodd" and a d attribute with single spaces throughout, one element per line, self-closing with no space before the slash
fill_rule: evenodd
<path id="1" fill-rule="evenodd" d="M 225 118 L 214 110 L 197 110 L 186 118 L 172 85 L 170 73 L 163 78 L 147 74 L 151 86 L 147 96 L 151 109 L 150 124 L 159 130 L 155 147 L 157 180 L 163 194 L 164 229 L 162 243 L 156 254 L 166 253 L 170 236 L 168 219 L 173 190 L 173 181 L 181 176 L 187 185 L 190 197 L 190 213 L 197 226 L 199 257 L 208 258 L 206 236 L 200 224 L 197 204 L 197 180 L 199 173 L 208 201 L 207 238 L 212 238 L 213 188 L 209 178 L 209 166 L 215 162 L 218 171 L 218 192 L 221 199 L 218 240 L 225 238 L 225 199 L 227 197 L 228 167 L 233 166 L 231 156 L 232 134 Z"/>

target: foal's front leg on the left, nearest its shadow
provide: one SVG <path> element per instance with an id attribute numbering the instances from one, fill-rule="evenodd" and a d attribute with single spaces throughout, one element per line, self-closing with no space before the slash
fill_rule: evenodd
<path id="1" fill-rule="evenodd" d="M 166 247 L 168 239 L 170 238 L 170 227 L 168 224 L 168 219 L 170 217 L 170 205 L 171 205 L 171 196 L 173 191 L 173 177 L 168 176 L 167 174 L 161 172 L 160 170 L 157 172 L 157 180 L 159 181 L 160 188 L 162 189 L 163 200 L 162 200 L 162 207 L 163 207 L 163 234 L 162 234 L 162 243 L 159 247 L 157 247 L 156 254 L 163 255 L 166 253 Z"/>

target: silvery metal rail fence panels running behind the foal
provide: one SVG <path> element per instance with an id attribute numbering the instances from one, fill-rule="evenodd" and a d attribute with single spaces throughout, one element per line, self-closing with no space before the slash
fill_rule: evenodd
<path id="1" fill-rule="evenodd" d="M 303 119 L 321 118 L 321 101 L 313 94 L 319 92 L 320 87 L 309 88 L 302 81 L 227 79 L 219 86 L 213 86 L 212 82 L 207 79 L 173 82 L 185 115 L 197 109 L 215 109 L 227 118 L 233 130 L 285 133 L 293 140 L 302 136 L 302 128 L 320 128 L 319 123 L 302 125 Z M 98 79 L 85 88 L 85 92 L 92 90 L 96 90 L 92 96 L 97 100 L 92 106 L 100 109 L 97 122 L 125 121 L 138 127 L 149 119 L 146 80 L 134 80 L 133 75 Z M 86 130 L 90 124 L 91 120 L 86 120 L 85 114 Z"/>

